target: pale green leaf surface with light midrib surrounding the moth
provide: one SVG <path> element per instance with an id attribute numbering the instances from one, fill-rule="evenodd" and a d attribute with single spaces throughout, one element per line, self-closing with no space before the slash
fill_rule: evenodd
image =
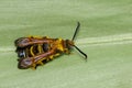
<path id="1" fill-rule="evenodd" d="M 18 69 L 14 40 L 72 38 L 73 50 L 36 70 Z M 0 88 L 131 88 L 132 0 L 0 0 Z"/>

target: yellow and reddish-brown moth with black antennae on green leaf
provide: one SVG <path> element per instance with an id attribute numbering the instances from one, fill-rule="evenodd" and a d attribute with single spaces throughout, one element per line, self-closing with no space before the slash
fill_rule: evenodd
<path id="1" fill-rule="evenodd" d="M 72 41 L 63 38 L 50 38 L 47 36 L 29 36 L 19 37 L 18 40 L 15 40 L 15 52 L 18 53 L 19 57 L 18 68 L 35 69 L 36 66 L 43 65 L 44 63 L 52 61 L 56 56 L 59 56 L 62 54 L 70 54 L 70 50 L 73 47 L 75 47 L 80 54 L 85 56 L 85 59 L 87 59 L 87 55 L 82 51 L 80 51 L 74 43 L 79 26 L 80 23 L 78 22 Z"/>

